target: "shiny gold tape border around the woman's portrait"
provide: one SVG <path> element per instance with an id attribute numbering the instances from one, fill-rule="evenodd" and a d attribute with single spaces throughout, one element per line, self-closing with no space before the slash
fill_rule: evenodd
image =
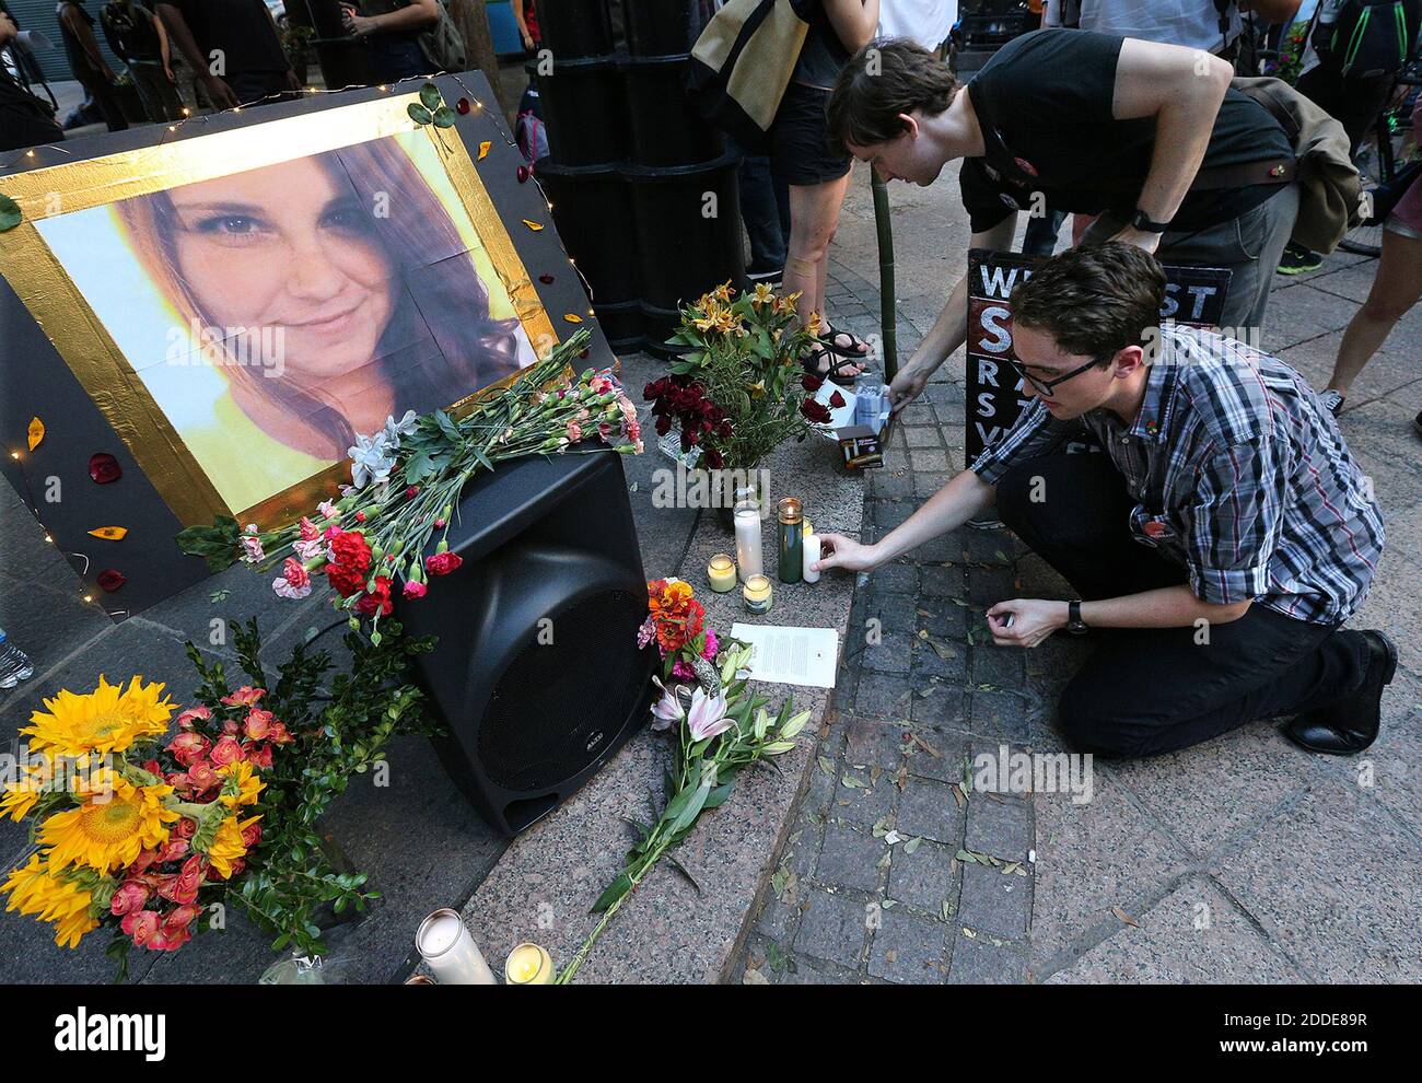
<path id="1" fill-rule="evenodd" d="M 0 276 L 34 316 L 109 425 L 128 445 L 139 468 L 183 524 L 233 514 L 263 526 L 309 510 L 348 475 L 336 463 L 260 503 L 229 507 L 182 436 L 154 401 L 142 378 L 105 330 L 34 223 L 47 217 L 108 206 L 134 196 L 212 180 L 309 158 L 327 151 L 408 134 L 405 107 L 418 94 L 319 109 L 249 128 L 201 135 L 158 146 L 70 162 L 0 179 L 20 205 L 24 220 L 0 233 Z M 438 158 L 483 243 L 515 314 L 539 357 L 556 345 L 553 323 L 533 289 L 513 240 L 503 227 L 464 141 L 454 128 L 425 126 Z M 240 162 L 240 169 L 232 163 Z M 478 398 L 512 382 L 512 374 L 456 404 L 466 412 Z"/>

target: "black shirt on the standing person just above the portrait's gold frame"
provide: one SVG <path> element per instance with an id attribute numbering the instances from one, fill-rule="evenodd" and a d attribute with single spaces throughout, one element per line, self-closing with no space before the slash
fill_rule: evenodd
<path id="1" fill-rule="evenodd" d="M 158 0 L 158 16 L 219 109 L 301 90 L 263 0 Z"/>

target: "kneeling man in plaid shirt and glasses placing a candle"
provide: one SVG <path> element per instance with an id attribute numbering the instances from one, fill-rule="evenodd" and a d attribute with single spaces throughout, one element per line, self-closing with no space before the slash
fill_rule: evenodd
<path id="1" fill-rule="evenodd" d="M 1160 327 L 1165 274 L 1126 244 L 1066 252 L 1012 294 L 1018 422 L 902 526 L 839 534 L 822 569 L 872 569 L 995 503 L 1078 597 L 988 610 L 1000 645 L 1057 630 L 1098 648 L 1059 719 L 1081 752 L 1143 756 L 1294 715 L 1313 752 L 1378 735 L 1396 648 L 1344 631 L 1382 520 L 1332 415 L 1277 358 Z M 1065 453 L 1094 436 L 1105 453 Z"/>

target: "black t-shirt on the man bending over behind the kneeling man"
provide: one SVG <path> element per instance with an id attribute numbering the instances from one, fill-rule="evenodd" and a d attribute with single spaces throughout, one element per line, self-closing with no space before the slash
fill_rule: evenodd
<path id="1" fill-rule="evenodd" d="M 1122 37 L 1086 30 L 1038 30 L 1014 38 L 968 82 L 987 153 L 963 162 L 958 183 L 974 233 L 1041 192 L 1054 210 L 1129 217 L 1150 172 L 1153 117 L 1111 115 Z M 1268 111 L 1230 88 L 1220 104 L 1200 169 L 1293 159 Z M 1281 185 L 1189 192 L 1172 229 L 1204 229 L 1243 215 Z"/>

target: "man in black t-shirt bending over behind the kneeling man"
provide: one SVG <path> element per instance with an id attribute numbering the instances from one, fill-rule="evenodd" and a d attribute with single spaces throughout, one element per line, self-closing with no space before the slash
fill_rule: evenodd
<path id="1" fill-rule="evenodd" d="M 1257 337 L 1298 209 L 1293 148 L 1268 111 L 1200 50 L 1081 30 L 1010 41 L 966 92 L 933 54 L 860 50 L 829 102 L 829 134 L 886 179 L 930 185 L 963 159 L 971 247 L 1010 252 L 1017 212 L 1099 215 L 1082 243 L 1233 271 L 1221 324 Z M 967 337 L 961 279 L 893 382 L 896 408 Z"/>

